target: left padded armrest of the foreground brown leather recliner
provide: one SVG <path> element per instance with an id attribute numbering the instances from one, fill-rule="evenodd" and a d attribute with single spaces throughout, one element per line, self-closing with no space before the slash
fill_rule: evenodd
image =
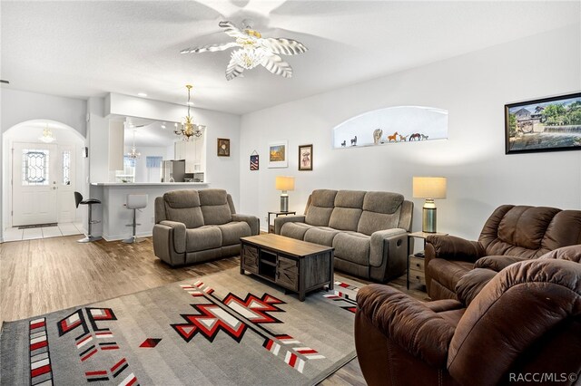
<path id="1" fill-rule="evenodd" d="M 387 285 L 366 285 L 357 295 L 364 314 L 393 343 L 433 366 L 445 366 L 455 326 L 425 304 Z"/>

